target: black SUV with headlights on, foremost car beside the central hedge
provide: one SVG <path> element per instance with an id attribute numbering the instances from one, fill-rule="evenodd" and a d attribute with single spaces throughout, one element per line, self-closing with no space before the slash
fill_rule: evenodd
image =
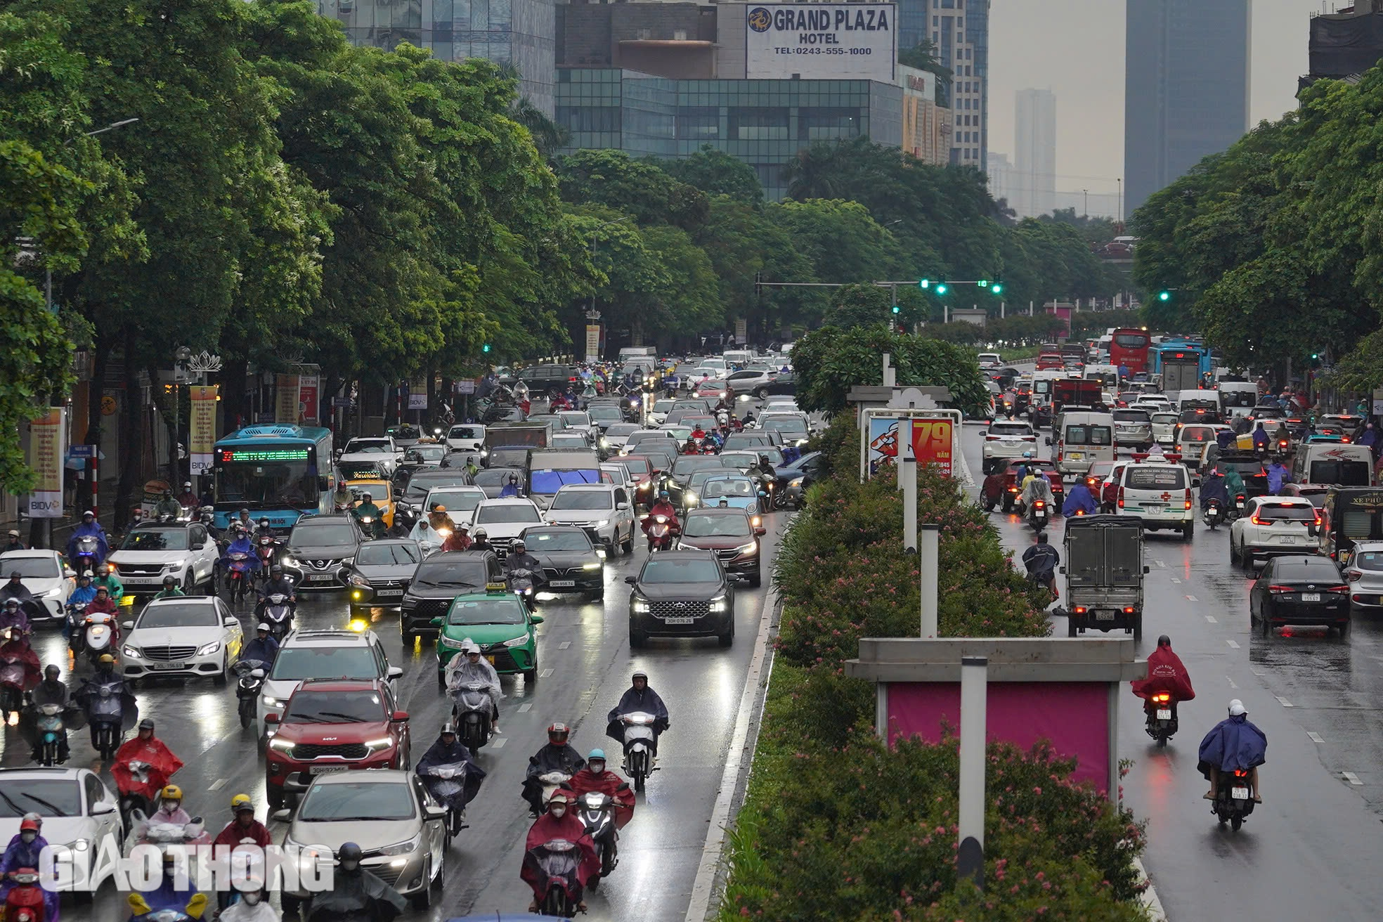
<path id="1" fill-rule="evenodd" d="M 734 583 L 711 550 L 664 550 L 625 576 L 629 593 L 629 646 L 650 636 L 709 637 L 734 643 Z"/>

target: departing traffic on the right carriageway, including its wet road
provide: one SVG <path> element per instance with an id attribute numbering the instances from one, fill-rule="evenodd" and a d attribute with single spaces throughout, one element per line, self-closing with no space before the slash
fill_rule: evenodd
<path id="1" fill-rule="evenodd" d="M 1372 915 L 1372 408 L 1145 330 L 981 361 L 994 411 L 961 446 L 976 500 L 1050 586 L 1054 634 L 1133 636 L 1149 664 L 1122 694 L 1119 752 L 1160 910 Z M 1241 827 L 1256 835 L 1223 838 Z M 1264 874 L 1292 886 L 1232 883 Z"/>

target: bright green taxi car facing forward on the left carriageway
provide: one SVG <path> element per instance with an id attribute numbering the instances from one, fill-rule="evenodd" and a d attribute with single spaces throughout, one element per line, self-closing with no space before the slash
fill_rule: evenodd
<path id="1" fill-rule="evenodd" d="M 538 677 L 538 639 L 534 628 L 542 615 L 528 611 L 519 596 L 503 583 L 487 583 L 485 592 L 473 592 L 451 600 L 447 614 L 433 618 L 437 634 L 437 686 L 445 688 L 447 664 L 461 651 L 461 641 L 470 637 L 480 646 L 480 655 L 499 675 L 521 672 L 532 681 Z"/>

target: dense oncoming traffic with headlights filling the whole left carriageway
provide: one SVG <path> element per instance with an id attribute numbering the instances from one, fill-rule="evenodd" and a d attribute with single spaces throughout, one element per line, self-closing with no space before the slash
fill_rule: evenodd
<path id="1" fill-rule="evenodd" d="M 207 495 L 0 553 L 4 871 L 84 868 L 0 901 L 683 916 L 817 422 L 733 350 L 501 368 L 470 411 L 246 427 Z M 145 886 L 86 861 L 144 846 Z M 245 857 L 199 887 L 198 846 Z"/>

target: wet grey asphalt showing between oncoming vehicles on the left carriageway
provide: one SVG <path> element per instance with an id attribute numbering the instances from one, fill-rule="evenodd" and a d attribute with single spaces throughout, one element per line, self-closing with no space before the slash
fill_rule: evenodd
<path id="1" fill-rule="evenodd" d="M 788 513 L 765 517 L 762 589 L 741 585 L 736 592 L 736 643 L 722 650 L 714 639 L 654 640 L 632 652 L 628 644 L 626 575 L 639 571 L 647 552 L 635 543 L 632 557 L 607 561 L 604 603 L 544 601 L 545 623 L 538 629 L 541 673 L 537 681 L 502 676 L 506 698 L 501 702 L 503 734 L 481 749 L 479 762 L 488 777 L 467 810 L 470 828 L 462 831 L 448 853 L 447 885 L 427 911 L 407 911 L 408 922 L 433 922 L 469 912 L 523 912 L 531 892 L 519 879 L 523 842 L 530 820 L 519 791 L 528 756 L 546 742 L 545 730 L 555 720 L 573 726 L 571 742 L 585 755 L 603 748 L 610 767 L 618 770 L 618 745 L 606 738 L 606 713 L 613 708 L 635 669 L 649 673 L 653 687 L 667 701 L 672 727 L 660 745 L 660 770 L 639 796 L 633 820 L 621 832 L 620 867 L 595 893 L 588 893 L 589 919 L 639 919 L 680 922 L 687 911 L 693 881 L 701 860 L 711 810 L 721 789 L 745 673 L 765 611 L 768 574 Z M 306 593 L 304 593 L 306 594 Z M 311 593 L 299 605 L 301 628 L 342 628 L 347 604 L 342 593 Z M 250 629 L 252 603 L 236 607 Z M 400 644 L 397 614 L 376 614 L 375 630 L 384 640 L 390 664 L 402 666 L 400 699 L 411 716 L 412 760 L 436 740 L 449 705 L 438 695 L 431 643 Z M 36 634 L 44 664 L 64 666 L 66 646 L 57 632 Z M 90 666 L 77 665 L 77 676 Z M 187 791 L 184 806 L 219 831 L 230 820 L 232 795 L 248 792 L 264 802 L 264 760 L 256 752 L 253 726 L 241 730 L 234 684 L 216 688 L 210 680 L 170 680 L 138 690 L 141 716 L 158 722 L 158 735 L 187 763 L 174 781 Z M 28 764 L 28 746 L 11 728 L 0 738 L 0 766 Z M 72 734 L 69 766 L 101 770 L 84 731 Z M 109 782 L 109 773 L 104 773 Z M 270 822 L 274 840 L 286 831 Z M 275 900 L 277 904 L 277 900 Z M 89 910 L 64 900 L 64 919 L 127 918 L 123 897 L 106 887 Z"/>

